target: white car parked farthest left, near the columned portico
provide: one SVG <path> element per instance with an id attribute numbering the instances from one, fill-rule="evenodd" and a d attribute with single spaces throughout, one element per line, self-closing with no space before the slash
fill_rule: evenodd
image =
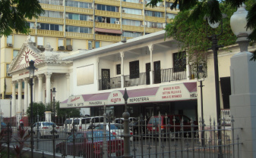
<path id="1" fill-rule="evenodd" d="M 52 125 L 55 125 L 55 138 L 58 138 L 58 125 L 55 124 L 55 122 L 36 122 L 33 124 L 33 132 L 35 133 L 35 136 L 37 135 L 37 127 L 40 129 L 39 136 L 40 138 L 52 138 L 52 132 L 53 127 Z M 30 132 L 30 129 L 28 130 Z"/>

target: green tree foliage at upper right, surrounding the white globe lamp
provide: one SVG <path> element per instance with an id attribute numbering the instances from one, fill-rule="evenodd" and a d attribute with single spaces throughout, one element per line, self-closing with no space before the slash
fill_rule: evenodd
<path id="1" fill-rule="evenodd" d="M 162 0 L 151 0 L 147 5 L 156 6 L 157 2 Z M 223 15 L 227 17 L 223 19 L 223 34 L 218 36 L 218 45 L 235 44 L 236 37 L 230 29 L 230 17 L 236 11 L 236 7 L 245 2 L 248 12 L 248 28 L 253 29 L 253 33 L 249 36 L 251 42 L 256 39 L 256 2 L 254 0 L 174 0 L 171 9 L 175 9 L 179 4 L 179 14 L 175 19 L 166 25 L 166 37 L 173 37 L 180 42 L 181 51 L 187 51 L 190 60 L 192 57 L 196 61 L 205 60 L 205 51 L 211 48 L 211 42 L 207 36 L 211 34 L 219 34 L 221 27 L 216 30 L 208 27 L 208 35 L 206 30 L 207 22 L 216 23 L 222 20 Z M 254 60 L 256 59 L 256 51 L 254 52 Z"/>

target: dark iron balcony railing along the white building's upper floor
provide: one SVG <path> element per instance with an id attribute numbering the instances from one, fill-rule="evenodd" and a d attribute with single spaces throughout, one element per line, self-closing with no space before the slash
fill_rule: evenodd
<path id="1" fill-rule="evenodd" d="M 153 72 L 153 83 L 158 84 L 161 82 L 171 82 L 187 79 L 186 71 L 175 72 L 173 68 Z M 99 90 L 121 88 L 121 76 L 112 77 L 109 79 L 99 79 Z M 130 75 L 124 76 L 124 87 L 149 85 L 150 73 L 140 73 L 136 78 L 131 79 Z"/>

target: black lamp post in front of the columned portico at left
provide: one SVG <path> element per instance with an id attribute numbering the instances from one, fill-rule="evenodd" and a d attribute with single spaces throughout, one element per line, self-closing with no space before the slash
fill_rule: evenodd
<path id="1" fill-rule="evenodd" d="M 34 66 L 35 62 L 30 60 L 30 67 L 27 67 L 27 70 L 30 70 L 30 146 L 31 146 L 31 157 L 33 158 L 33 76 L 35 73 L 36 67 Z"/>

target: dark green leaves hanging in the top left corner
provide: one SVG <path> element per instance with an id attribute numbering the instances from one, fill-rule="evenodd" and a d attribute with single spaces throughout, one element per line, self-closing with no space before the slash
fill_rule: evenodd
<path id="1" fill-rule="evenodd" d="M 1 0 L 0 1 L 0 37 L 11 33 L 29 33 L 27 20 L 43 14 L 38 0 Z"/>

